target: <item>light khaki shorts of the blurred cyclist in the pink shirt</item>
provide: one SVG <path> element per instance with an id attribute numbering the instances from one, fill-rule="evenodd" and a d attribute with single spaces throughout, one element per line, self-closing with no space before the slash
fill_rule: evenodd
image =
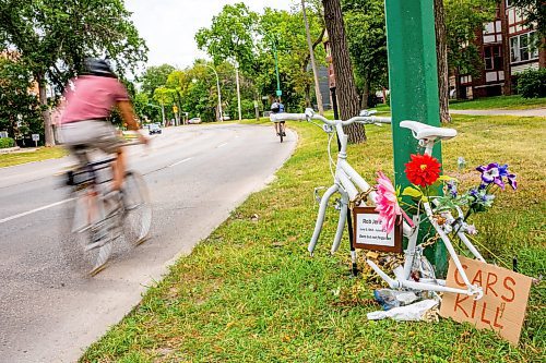
<path id="1" fill-rule="evenodd" d="M 124 143 L 109 121 L 84 120 L 62 124 L 61 142 L 70 147 L 98 148 L 106 154 L 116 153 Z"/>

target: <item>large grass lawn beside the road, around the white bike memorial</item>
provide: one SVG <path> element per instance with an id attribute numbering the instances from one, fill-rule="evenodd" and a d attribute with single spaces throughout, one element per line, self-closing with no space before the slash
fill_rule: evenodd
<path id="1" fill-rule="evenodd" d="M 262 120 L 261 123 L 269 123 Z M 230 218 L 180 258 L 120 324 L 81 358 L 82 362 L 538 362 L 546 348 L 546 289 L 533 287 L 519 347 L 496 334 L 449 319 L 439 323 L 368 322 L 379 310 L 368 275 L 349 277 L 346 241 L 329 249 L 335 210 L 327 216 L 310 258 L 318 206 L 314 186 L 329 185 L 327 137 L 307 123 L 294 156 L 265 190 L 251 195 Z M 455 117 L 460 136 L 444 143 L 447 173 L 477 182 L 477 165 L 503 161 L 519 174 L 518 192 L 498 196 L 475 222 L 491 253 L 522 273 L 546 273 L 544 120 Z M 392 174 L 390 128 L 369 126 L 366 145 L 349 146 L 351 162 L 371 180 Z M 456 158 L 466 169 L 459 171 Z M 241 156 L 242 157 L 242 156 Z M 258 216 L 258 217 L 257 217 Z M 487 241 L 487 242 L 486 242 Z"/>

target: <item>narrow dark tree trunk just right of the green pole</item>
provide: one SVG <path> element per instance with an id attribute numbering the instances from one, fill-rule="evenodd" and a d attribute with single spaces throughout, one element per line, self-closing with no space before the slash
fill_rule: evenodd
<path id="1" fill-rule="evenodd" d="M 440 100 L 440 121 L 451 122 L 449 116 L 449 69 L 448 43 L 446 38 L 446 13 L 443 0 L 435 0 L 436 55 L 438 57 L 438 96 Z"/>

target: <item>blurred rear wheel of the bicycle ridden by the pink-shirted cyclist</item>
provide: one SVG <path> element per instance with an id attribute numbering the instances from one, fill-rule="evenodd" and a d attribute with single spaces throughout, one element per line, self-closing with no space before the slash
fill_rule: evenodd
<path id="1" fill-rule="evenodd" d="M 104 201 L 86 190 L 71 197 L 61 230 L 64 259 L 72 269 L 94 276 L 105 268 L 112 253 L 116 216 L 106 218 Z"/>

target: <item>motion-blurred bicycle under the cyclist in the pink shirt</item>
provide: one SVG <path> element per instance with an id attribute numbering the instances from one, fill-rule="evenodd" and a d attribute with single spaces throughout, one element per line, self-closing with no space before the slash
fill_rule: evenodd
<path id="1" fill-rule="evenodd" d="M 80 164 L 67 173 L 70 203 L 62 245 L 72 266 L 94 276 L 115 252 L 124 252 L 147 239 L 152 206 L 140 173 L 128 171 L 121 191 L 112 191 L 111 165 L 116 158 L 92 161 L 84 147 L 75 155 Z M 126 243 L 117 243 L 120 240 Z"/>

